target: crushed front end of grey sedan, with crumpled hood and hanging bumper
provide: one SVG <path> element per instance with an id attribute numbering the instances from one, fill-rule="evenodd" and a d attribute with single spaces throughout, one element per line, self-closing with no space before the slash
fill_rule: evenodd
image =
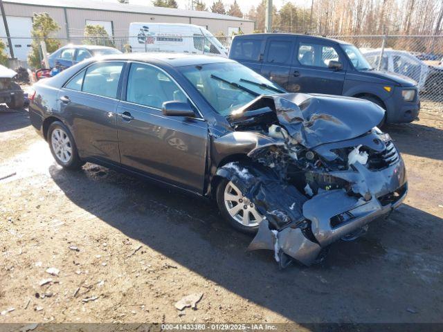
<path id="1" fill-rule="evenodd" d="M 248 162 L 217 169 L 262 214 L 249 249 L 273 250 L 284 268 L 307 266 L 338 239 L 354 239 L 407 192 L 403 160 L 377 124 L 383 110 L 354 98 L 262 95 L 235 111 L 235 129 L 215 154 L 243 151 Z"/>

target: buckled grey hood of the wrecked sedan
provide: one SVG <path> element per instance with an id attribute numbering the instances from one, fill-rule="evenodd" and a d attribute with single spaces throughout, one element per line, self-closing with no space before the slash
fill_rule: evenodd
<path id="1" fill-rule="evenodd" d="M 383 120 L 384 110 L 368 100 L 333 95 L 261 95 L 235 113 L 269 107 L 289 135 L 307 148 L 363 135 Z"/>

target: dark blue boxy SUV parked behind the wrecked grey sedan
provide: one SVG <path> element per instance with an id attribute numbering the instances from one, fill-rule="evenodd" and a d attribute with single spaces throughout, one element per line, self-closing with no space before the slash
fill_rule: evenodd
<path id="1" fill-rule="evenodd" d="M 417 120 L 417 83 L 374 70 L 352 44 L 286 33 L 239 35 L 233 39 L 229 57 L 287 91 L 362 98 L 386 110 L 384 122 Z"/>

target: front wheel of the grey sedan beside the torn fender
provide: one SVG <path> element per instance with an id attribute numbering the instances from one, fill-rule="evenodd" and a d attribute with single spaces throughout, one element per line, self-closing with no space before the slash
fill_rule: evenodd
<path id="1" fill-rule="evenodd" d="M 247 234 L 257 232 L 263 216 L 231 181 L 224 179 L 219 183 L 217 205 L 225 221 L 233 228 Z"/>

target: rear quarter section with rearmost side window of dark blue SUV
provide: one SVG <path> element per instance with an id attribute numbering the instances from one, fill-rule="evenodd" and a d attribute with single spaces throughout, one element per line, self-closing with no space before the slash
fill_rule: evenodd
<path id="1" fill-rule="evenodd" d="M 265 39 L 234 37 L 229 58 L 261 73 Z"/>

